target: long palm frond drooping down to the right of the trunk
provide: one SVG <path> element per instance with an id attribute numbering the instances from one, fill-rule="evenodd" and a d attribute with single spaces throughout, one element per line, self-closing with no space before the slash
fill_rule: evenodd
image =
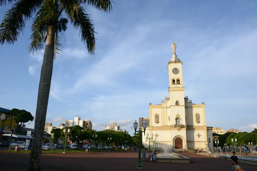
<path id="1" fill-rule="evenodd" d="M 86 45 L 87 51 L 89 54 L 94 55 L 96 41 L 94 35 L 96 32 L 89 14 L 86 14 L 86 11 L 79 3 L 67 4 L 64 10 L 74 28 L 79 30 L 81 41 Z"/>

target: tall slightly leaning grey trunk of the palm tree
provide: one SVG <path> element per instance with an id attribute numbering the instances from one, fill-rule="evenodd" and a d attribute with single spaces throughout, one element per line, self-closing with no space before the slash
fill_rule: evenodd
<path id="1" fill-rule="evenodd" d="M 42 138 L 46 122 L 46 111 L 50 93 L 53 63 L 54 63 L 54 36 L 55 25 L 49 24 L 47 31 L 46 48 L 43 57 L 41 75 L 38 87 L 38 101 L 36 108 L 34 136 L 30 152 L 30 164 L 28 171 L 40 171 L 40 158 L 42 150 Z"/>

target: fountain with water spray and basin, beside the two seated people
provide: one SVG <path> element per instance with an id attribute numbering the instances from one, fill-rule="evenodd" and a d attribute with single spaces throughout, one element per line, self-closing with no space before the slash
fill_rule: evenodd
<path id="1" fill-rule="evenodd" d="M 157 154 L 156 162 L 164 163 L 190 163 L 190 157 L 183 156 L 181 154 L 173 153 L 171 145 L 163 145 L 161 152 Z"/>

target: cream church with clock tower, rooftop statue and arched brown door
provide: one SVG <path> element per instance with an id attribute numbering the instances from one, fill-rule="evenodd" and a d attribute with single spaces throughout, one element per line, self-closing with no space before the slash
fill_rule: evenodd
<path id="1" fill-rule="evenodd" d="M 176 55 L 176 47 L 173 42 L 173 54 L 168 62 L 169 97 L 165 97 L 161 104 L 149 103 L 149 126 L 145 134 L 148 133 L 150 138 L 154 134 L 158 149 L 171 145 L 176 149 L 206 150 L 213 147 L 212 127 L 206 126 L 204 102 L 193 104 L 184 95 L 182 61 Z M 144 134 L 142 142 L 148 149 L 149 140 Z"/>

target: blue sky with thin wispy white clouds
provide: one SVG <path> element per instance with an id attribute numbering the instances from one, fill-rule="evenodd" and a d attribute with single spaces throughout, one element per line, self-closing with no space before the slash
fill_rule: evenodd
<path id="1" fill-rule="evenodd" d="M 255 0 L 114 0 L 112 6 L 110 14 L 85 6 L 98 32 L 94 56 L 70 23 L 62 35 L 46 122 L 59 126 L 80 116 L 95 130 L 116 122 L 132 135 L 133 122 L 149 116 L 148 104 L 168 96 L 174 41 L 185 95 L 206 104 L 207 126 L 257 127 Z M 9 8 L 0 8 L 1 19 Z M 14 45 L 0 46 L 0 107 L 35 115 L 44 49 L 28 52 L 30 26 Z"/>

